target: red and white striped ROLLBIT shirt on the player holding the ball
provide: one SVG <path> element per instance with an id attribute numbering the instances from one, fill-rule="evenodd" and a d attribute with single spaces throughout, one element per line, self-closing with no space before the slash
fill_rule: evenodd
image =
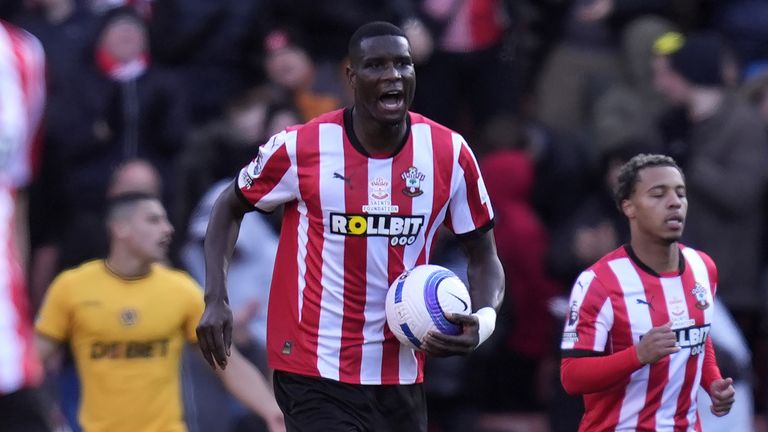
<path id="1" fill-rule="evenodd" d="M 285 204 L 270 293 L 270 367 L 353 384 L 412 384 L 424 355 L 389 331 L 384 300 L 429 262 L 436 233 L 490 229 L 474 155 L 457 133 L 409 113 L 392 157 L 371 157 L 351 111 L 324 114 L 264 144 L 238 176 L 256 209 Z M 258 241 L 258 240 L 255 240 Z"/>

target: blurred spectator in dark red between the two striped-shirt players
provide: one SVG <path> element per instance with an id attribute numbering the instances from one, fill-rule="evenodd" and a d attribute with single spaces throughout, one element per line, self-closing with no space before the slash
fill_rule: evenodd
<path id="1" fill-rule="evenodd" d="M 548 393 L 545 377 L 553 363 L 555 325 L 547 305 L 558 287 L 544 267 L 549 233 L 531 203 L 533 162 L 517 147 L 518 137 L 505 138 L 506 146 L 479 161 L 496 212 L 494 234 L 506 275 L 508 311 L 501 316 L 506 320 L 500 320 L 504 340 L 486 365 L 495 379 L 482 392 L 486 395 L 482 406 L 492 411 L 535 411 L 544 406 Z"/>

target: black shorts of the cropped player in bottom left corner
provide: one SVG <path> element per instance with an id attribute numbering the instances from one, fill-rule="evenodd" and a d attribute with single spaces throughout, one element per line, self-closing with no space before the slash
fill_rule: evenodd
<path id="1" fill-rule="evenodd" d="M 36 389 L 0 395 L 0 432 L 50 432 L 44 406 Z"/>

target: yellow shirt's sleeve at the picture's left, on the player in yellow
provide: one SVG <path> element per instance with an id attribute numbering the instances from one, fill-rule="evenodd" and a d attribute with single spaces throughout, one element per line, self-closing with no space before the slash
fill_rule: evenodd
<path id="1" fill-rule="evenodd" d="M 59 342 L 68 340 L 71 333 L 72 315 L 70 300 L 66 277 L 61 275 L 53 281 L 45 294 L 45 299 L 35 321 L 35 330 Z"/>

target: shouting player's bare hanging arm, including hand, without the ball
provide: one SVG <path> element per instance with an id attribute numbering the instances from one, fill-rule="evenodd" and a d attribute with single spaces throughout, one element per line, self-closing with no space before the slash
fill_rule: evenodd
<path id="1" fill-rule="evenodd" d="M 205 311 L 197 326 L 197 339 L 205 360 L 216 369 L 227 366 L 232 343 L 232 310 L 225 284 L 240 222 L 253 210 L 240 199 L 236 185 L 226 187 L 211 211 L 205 233 Z"/>

